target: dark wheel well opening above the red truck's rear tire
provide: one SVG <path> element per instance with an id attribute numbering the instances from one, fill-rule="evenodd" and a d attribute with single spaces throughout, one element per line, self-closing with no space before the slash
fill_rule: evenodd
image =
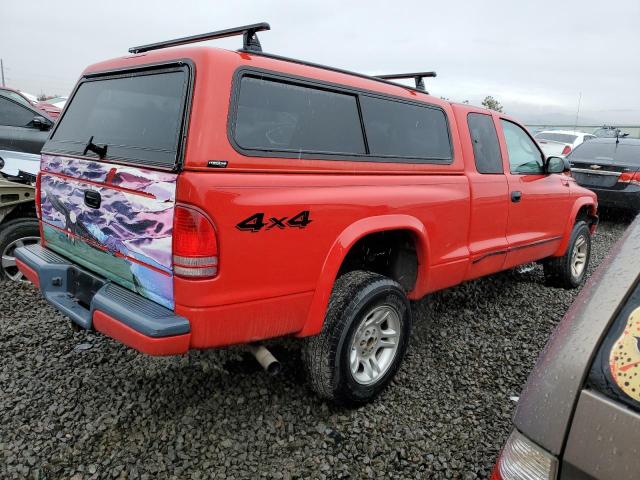
<path id="1" fill-rule="evenodd" d="M 409 292 L 418 277 L 416 239 L 408 230 L 371 233 L 358 240 L 345 257 L 338 276 L 366 270 L 392 278 Z"/>

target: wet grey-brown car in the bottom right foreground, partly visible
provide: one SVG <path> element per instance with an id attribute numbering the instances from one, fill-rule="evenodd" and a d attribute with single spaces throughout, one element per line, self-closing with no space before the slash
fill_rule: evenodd
<path id="1" fill-rule="evenodd" d="M 639 249 L 636 220 L 538 359 L 493 480 L 638 478 Z"/>

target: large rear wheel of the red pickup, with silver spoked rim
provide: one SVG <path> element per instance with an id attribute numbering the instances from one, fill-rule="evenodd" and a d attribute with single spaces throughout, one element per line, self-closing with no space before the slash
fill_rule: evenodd
<path id="1" fill-rule="evenodd" d="M 410 333 L 409 301 L 397 282 L 346 273 L 334 285 L 322 331 L 306 340 L 311 388 L 341 405 L 372 401 L 400 368 Z"/>

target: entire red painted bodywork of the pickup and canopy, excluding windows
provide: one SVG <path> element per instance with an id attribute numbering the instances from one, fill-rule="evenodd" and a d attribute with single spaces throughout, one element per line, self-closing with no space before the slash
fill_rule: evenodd
<path id="1" fill-rule="evenodd" d="M 519 263 L 562 255 L 578 209 L 595 205 L 594 194 L 575 184 L 565 186 L 561 175 L 508 173 L 502 114 L 451 104 L 402 86 L 202 47 L 132 55 L 93 65 L 85 73 L 176 59 L 189 60 L 195 67 L 176 199 L 211 219 L 218 237 L 218 274 L 200 280 L 174 277 L 175 311 L 191 324 L 190 336 L 169 337 L 174 347 L 155 346 L 160 344 L 96 314 L 96 328 L 142 351 L 179 353 L 318 333 L 345 256 L 370 233 L 411 233 L 419 271 L 409 297 L 417 299 Z M 436 165 L 245 156 L 227 137 L 233 78 L 243 66 L 438 105 L 448 118 L 453 161 Z M 477 172 L 469 112 L 492 116 L 506 173 Z M 228 164 L 224 169 L 208 168 L 211 160 Z M 519 204 L 510 201 L 514 190 L 523 193 Z M 308 211 L 311 220 L 306 228 L 256 233 L 236 228 L 256 213 L 291 218 L 302 211 Z"/>

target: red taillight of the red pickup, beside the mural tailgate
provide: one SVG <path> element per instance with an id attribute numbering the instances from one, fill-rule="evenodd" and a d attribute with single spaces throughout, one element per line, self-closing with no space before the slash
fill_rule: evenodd
<path id="1" fill-rule="evenodd" d="M 218 238 L 213 224 L 198 210 L 180 205 L 173 217 L 173 271 L 188 278 L 218 274 Z"/>

